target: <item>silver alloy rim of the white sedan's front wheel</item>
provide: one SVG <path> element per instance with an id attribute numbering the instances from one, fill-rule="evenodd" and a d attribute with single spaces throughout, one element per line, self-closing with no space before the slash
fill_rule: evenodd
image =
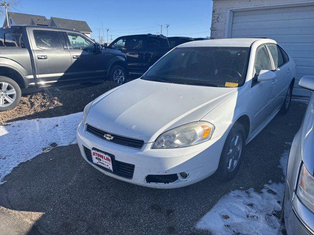
<path id="1" fill-rule="evenodd" d="M 229 172 L 235 170 L 239 163 L 242 152 L 242 135 L 236 133 L 229 145 L 229 151 L 227 153 L 227 168 Z"/>

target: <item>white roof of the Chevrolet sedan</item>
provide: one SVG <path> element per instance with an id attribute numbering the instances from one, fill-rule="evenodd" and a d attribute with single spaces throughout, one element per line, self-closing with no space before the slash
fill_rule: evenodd
<path id="1" fill-rule="evenodd" d="M 251 45 L 257 41 L 262 41 L 263 43 L 276 43 L 276 41 L 272 39 L 264 38 L 227 38 L 193 41 L 181 44 L 178 47 L 251 47 Z"/>

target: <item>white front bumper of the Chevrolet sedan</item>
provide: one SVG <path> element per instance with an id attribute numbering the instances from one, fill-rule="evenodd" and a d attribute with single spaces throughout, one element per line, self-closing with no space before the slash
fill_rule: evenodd
<path id="1" fill-rule="evenodd" d="M 216 171 L 225 136 L 178 149 L 152 149 L 153 143 L 145 143 L 142 149 L 138 150 L 99 139 L 87 133 L 85 126 L 80 123 L 77 130 L 77 141 L 83 158 L 105 175 L 151 188 L 180 188 L 203 180 Z M 103 170 L 88 161 L 85 151 L 93 148 L 114 155 L 115 161 L 134 165 L 131 179 Z M 148 175 L 171 175 L 181 172 L 186 172 L 188 177 L 183 179 L 179 175 L 178 180 L 172 183 L 147 182 Z"/>

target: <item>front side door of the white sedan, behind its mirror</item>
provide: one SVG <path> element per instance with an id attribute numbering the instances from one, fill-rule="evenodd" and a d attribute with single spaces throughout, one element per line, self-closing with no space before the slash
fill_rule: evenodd
<path id="1" fill-rule="evenodd" d="M 273 112 L 271 107 L 273 81 L 258 82 L 257 77 L 262 70 L 272 70 L 270 56 L 265 45 L 257 48 L 254 61 L 254 78 L 252 79 L 252 93 L 254 102 L 253 129 L 259 128 Z"/>

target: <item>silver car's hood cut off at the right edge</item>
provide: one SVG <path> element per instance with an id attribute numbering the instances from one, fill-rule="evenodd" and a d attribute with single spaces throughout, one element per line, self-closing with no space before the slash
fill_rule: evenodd
<path id="1" fill-rule="evenodd" d="M 308 171 L 314 175 L 314 95 L 312 95 L 302 124 L 301 155 Z"/>

